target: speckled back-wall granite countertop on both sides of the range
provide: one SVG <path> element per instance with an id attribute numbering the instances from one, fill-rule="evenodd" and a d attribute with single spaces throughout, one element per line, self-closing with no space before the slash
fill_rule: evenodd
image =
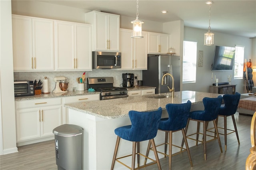
<path id="1" fill-rule="evenodd" d="M 145 89 L 156 89 L 156 87 L 140 86 L 140 87 L 127 88 L 128 91 L 145 90 Z M 33 95 L 33 96 L 15 97 L 15 101 L 46 99 L 46 98 L 53 98 L 53 97 L 68 97 L 68 96 L 78 96 L 78 95 L 93 95 L 93 94 L 100 94 L 100 92 L 98 91 L 89 92 L 85 90 L 85 91 L 68 91 L 68 93 L 49 93 L 49 94 L 41 94 L 41 95 Z"/>

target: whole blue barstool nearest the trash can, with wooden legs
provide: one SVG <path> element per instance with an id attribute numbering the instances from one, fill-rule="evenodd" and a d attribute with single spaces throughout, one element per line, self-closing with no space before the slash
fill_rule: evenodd
<path id="1" fill-rule="evenodd" d="M 114 169 L 114 164 L 116 161 L 126 166 L 127 168 L 134 170 L 136 155 L 137 155 L 137 164 L 138 164 L 138 167 L 136 169 L 145 167 L 145 166 L 140 166 L 140 161 L 139 161 L 140 155 L 145 157 L 145 155 L 140 153 L 140 142 L 144 140 L 150 140 L 150 142 L 152 143 L 156 161 L 150 158 L 149 159 L 153 161 L 152 164 L 157 163 L 158 169 L 161 170 L 158 154 L 156 152 L 156 145 L 154 142 L 154 137 L 156 136 L 156 133 L 159 127 L 161 115 L 162 115 L 161 107 L 159 107 L 157 111 L 151 111 L 151 112 L 129 111 L 129 117 L 132 125 L 119 127 L 115 129 L 115 134 L 117 135 L 117 139 L 116 139 L 116 147 L 115 147 L 114 156 L 112 160 L 111 170 Z M 118 160 L 131 155 L 116 158 L 120 138 L 129 140 L 132 142 L 132 168 L 130 168 L 129 166 L 127 166 L 126 164 Z M 136 144 L 137 144 L 137 153 L 136 153 Z"/>

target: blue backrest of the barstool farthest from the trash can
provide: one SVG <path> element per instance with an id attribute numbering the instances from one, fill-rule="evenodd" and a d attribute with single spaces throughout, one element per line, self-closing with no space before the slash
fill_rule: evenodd
<path id="1" fill-rule="evenodd" d="M 220 115 L 234 115 L 236 113 L 236 109 L 240 100 L 240 93 L 234 94 L 234 95 L 223 95 L 223 100 L 225 103 L 224 107 L 220 108 Z"/>

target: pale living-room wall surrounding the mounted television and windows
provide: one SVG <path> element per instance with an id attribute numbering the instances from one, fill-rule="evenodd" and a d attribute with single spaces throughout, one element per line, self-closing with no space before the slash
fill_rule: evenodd
<path id="1" fill-rule="evenodd" d="M 209 92 L 210 91 L 209 86 L 212 83 L 214 83 L 212 82 L 212 73 L 213 75 L 216 75 L 216 78 L 219 79 L 219 82 L 228 82 L 228 75 L 230 75 L 230 73 L 232 73 L 232 76 L 234 75 L 234 69 L 232 71 L 211 71 L 210 68 L 212 65 L 215 45 L 223 45 L 223 46 L 229 46 L 229 47 L 235 47 L 235 45 L 243 45 L 245 46 L 244 57 L 247 60 L 252 59 L 252 56 L 251 56 L 252 39 L 212 31 L 215 33 L 214 45 L 207 46 L 207 45 L 204 45 L 204 33 L 206 32 L 207 30 L 200 30 L 200 29 L 190 28 L 190 27 L 184 28 L 184 40 L 198 42 L 197 50 L 204 51 L 204 57 L 203 57 L 203 67 L 197 67 L 196 69 L 196 83 L 184 83 L 183 90 Z M 255 46 L 254 46 L 254 49 L 255 49 Z M 198 56 L 198 51 L 197 51 L 197 56 Z M 254 59 L 254 61 L 256 60 Z M 232 84 L 237 84 L 236 91 L 238 93 L 247 93 L 246 88 L 244 87 L 243 79 L 234 80 L 234 78 L 232 78 L 231 82 Z"/>

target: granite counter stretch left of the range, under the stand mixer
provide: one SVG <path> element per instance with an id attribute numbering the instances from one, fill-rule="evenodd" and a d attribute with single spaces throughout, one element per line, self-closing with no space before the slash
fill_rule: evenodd
<path id="1" fill-rule="evenodd" d="M 24 96 L 24 97 L 15 97 L 15 101 L 21 100 L 32 100 L 32 99 L 46 99 L 53 97 L 68 97 L 68 96 L 78 96 L 78 95 L 92 95 L 92 94 L 100 94 L 98 91 L 69 91 L 68 93 L 49 93 L 49 94 L 41 94 L 34 96 Z"/>

